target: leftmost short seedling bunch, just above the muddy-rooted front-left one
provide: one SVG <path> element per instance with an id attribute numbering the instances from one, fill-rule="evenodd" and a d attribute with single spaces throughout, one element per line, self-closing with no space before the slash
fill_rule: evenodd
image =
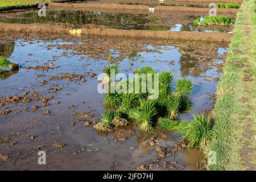
<path id="1" fill-rule="evenodd" d="M 104 98 L 104 106 L 117 109 L 122 102 L 122 95 L 118 93 L 107 93 Z"/>

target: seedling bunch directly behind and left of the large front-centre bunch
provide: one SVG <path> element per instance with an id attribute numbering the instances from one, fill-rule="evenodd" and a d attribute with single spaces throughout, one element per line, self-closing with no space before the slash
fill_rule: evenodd
<path id="1" fill-rule="evenodd" d="M 119 110 L 122 111 L 123 113 L 129 113 L 130 109 L 138 105 L 139 98 L 141 98 L 140 94 L 134 94 L 134 93 L 123 94 L 122 104 Z"/>

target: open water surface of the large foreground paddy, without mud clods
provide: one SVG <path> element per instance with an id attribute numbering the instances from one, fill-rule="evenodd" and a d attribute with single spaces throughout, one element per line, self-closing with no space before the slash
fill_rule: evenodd
<path id="1" fill-rule="evenodd" d="M 11 156 L 7 162 L 0 160 L 0 169 L 23 169 L 23 170 L 45 170 L 45 169 L 86 169 L 86 170 L 132 170 L 137 166 L 150 164 L 156 156 L 155 146 L 170 148 L 179 141 L 180 135 L 171 131 L 156 130 L 152 133 L 144 133 L 134 129 L 135 134 L 126 140 L 116 141 L 115 134 L 97 133 L 92 127 L 86 127 L 85 122 L 77 122 L 71 126 L 72 114 L 78 112 L 89 112 L 94 114 L 93 119 L 100 120 L 104 113 L 102 102 L 104 94 L 97 92 L 97 75 L 109 64 L 108 60 L 95 60 L 88 55 L 73 55 L 71 49 L 60 49 L 56 45 L 82 44 L 77 38 L 74 42 L 62 42 L 57 40 L 23 40 L 6 44 L 0 43 L 0 53 L 6 55 L 10 61 L 18 63 L 22 68 L 12 74 L 6 68 L 5 74 L 0 72 L 0 98 L 6 96 L 20 95 L 24 92 L 38 92 L 42 96 L 52 95 L 53 100 L 49 106 L 43 107 L 42 101 L 32 101 L 28 104 L 7 104 L 0 106 L 0 110 L 10 109 L 12 112 L 0 115 L 0 138 L 10 136 L 11 142 L 0 143 L 0 152 Z M 182 55 L 180 48 L 175 46 L 152 46 L 144 44 L 148 49 L 158 52 L 137 52 L 125 57 L 119 62 L 119 72 L 132 73 L 136 68 L 151 66 L 156 71 L 171 71 L 175 80 L 180 77 L 188 77 L 195 86 L 192 93 L 192 109 L 180 114 L 180 120 L 191 119 L 193 114 L 199 114 L 204 109 L 212 107 L 213 99 L 209 94 L 216 91 L 217 82 L 212 78 L 220 77 L 217 67 L 209 66 L 198 69 L 195 76 L 191 76 L 191 70 L 199 65 L 199 60 Z M 51 48 L 49 48 L 51 47 Z M 165 47 L 165 48 L 164 48 Z M 159 49 L 160 48 L 160 49 Z M 164 49 L 163 49 L 164 48 Z M 117 50 L 110 50 L 118 55 Z M 217 49 L 220 59 L 214 60 L 222 63 L 221 56 L 227 51 L 226 47 Z M 172 65 L 170 65 L 170 61 Z M 133 65 L 129 65 L 130 63 Z M 40 71 L 25 69 L 26 66 L 55 65 L 59 68 Z M 2 70 L 3 71 L 3 70 Z M 5 76 L 9 72 L 9 76 Z M 48 80 L 54 75 L 61 73 L 96 73 L 96 77 L 86 77 L 86 82 L 68 82 L 66 80 L 50 80 L 43 85 L 41 80 Z M 45 77 L 37 77 L 43 74 Z M 210 76 L 210 77 L 209 77 Z M 48 93 L 52 84 L 63 85 L 60 92 Z M 59 101 L 56 105 L 54 102 Z M 40 108 L 31 111 L 32 105 Z M 70 108 L 73 105 L 75 107 Z M 28 107 L 28 111 L 23 108 Z M 92 110 L 93 109 L 93 110 Z M 50 115 L 43 114 L 51 111 Z M 133 126 L 127 127 L 133 129 Z M 20 132 L 20 135 L 15 135 Z M 168 135 L 164 142 L 156 142 L 155 146 L 141 147 L 138 142 L 142 139 L 157 137 L 160 133 Z M 31 136 L 34 139 L 31 139 Z M 11 145 L 12 142 L 16 144 Z M 65 143 L 63 148 L 52 146 L 54 143 Z M 43 146 L 47 151 L 47 165 L 38 164 L 38 151 L 36 147 Z M 181 150 L 174 155 L 159 159 L 159 163 L 165 160 L 169 164 L 176 162 L 176 170 L 198 170 L 204 155 L 199 150 Z M 202 167 L 202 166 L 201 166 Z M 150 167 L 152 170 L 163 170 L 156 163 Z M 171 169 L 170 166 L 167 169 Z"/>

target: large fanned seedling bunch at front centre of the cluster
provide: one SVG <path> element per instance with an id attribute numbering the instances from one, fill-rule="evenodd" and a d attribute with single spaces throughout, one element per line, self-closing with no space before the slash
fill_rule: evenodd
<path id="1" fill-rule="evenodd" d="M 153 130 L 153 117 L 157 114 L 155 102 L 151 100 L 140 99 L 140 105 L 131 110 L 130 114 L 133 115 L 139 124 L 139 129 L 143 131 Z"/>

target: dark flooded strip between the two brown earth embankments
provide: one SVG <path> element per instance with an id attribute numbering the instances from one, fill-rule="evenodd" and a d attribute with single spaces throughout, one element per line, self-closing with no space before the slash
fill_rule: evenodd
<path id="1" fill-rule="evenodd" d="M 86 24 L 118 28 L 124 30 L 154 31 L 196 31 L 196 32 L 230 32 L 233 27 L 225 26 L 193 26 L 193 21 L 203 14 L 132 14 L 104 13 L 100 11 L 47 10 L 46 16 L 38 16 L 37 10 L 9 11 L 0 14 L 3 23 L 68 23 L 74 28 Z"/>

